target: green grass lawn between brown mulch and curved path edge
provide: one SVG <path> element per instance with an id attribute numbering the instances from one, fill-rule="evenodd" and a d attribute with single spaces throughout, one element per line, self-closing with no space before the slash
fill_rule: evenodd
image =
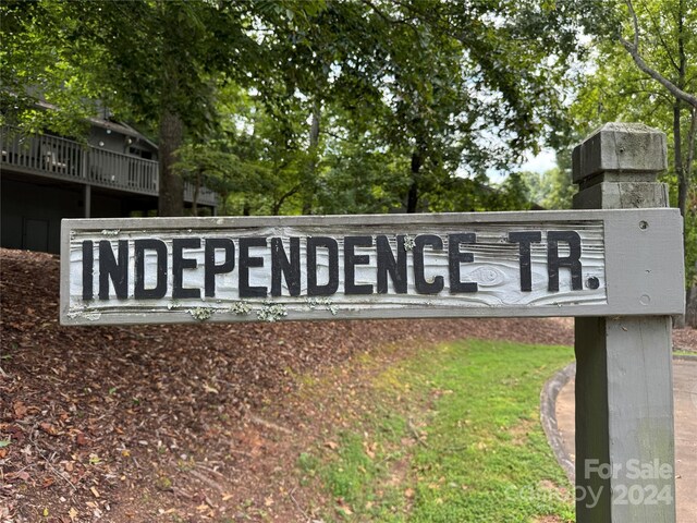
<path id="1" fill-rule="evenodd" d="M 325 521 L 570 522 L 573 487 L 539 423 L 571 348 L 467 340 L 377 374 L 368 406 L 303 453 Z M 547 519 L 545 519 L 547 518 Z M 551 518 L 551 519 L 550 519 Z"/>

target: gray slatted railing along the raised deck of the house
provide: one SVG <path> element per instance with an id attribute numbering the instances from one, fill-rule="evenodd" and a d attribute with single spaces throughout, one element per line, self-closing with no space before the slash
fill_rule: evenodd
<path id="1" fill-rule="evenodd" d="M 26 135 L 8 126 L 0 129 L 3 168 L 88 183 L 137 194 L 158 195 L 157 161 L 106 150 L 48 134 Z M 192 202 L 194 187 L 184 184 L 184 199 Z M 200 187 L 198 204 L 217 205 L 217 194 Z"/>

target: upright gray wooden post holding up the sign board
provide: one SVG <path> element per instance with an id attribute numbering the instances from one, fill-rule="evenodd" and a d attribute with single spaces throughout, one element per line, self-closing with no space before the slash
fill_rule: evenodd
<path id="1" fill-rule="evenodd" d="M 574 208 L 668 207 L 668 188 L 656 181 L 665 167 L 663 133 L 607 124 L 574 150 L 580 186 Z M 647 232 L 653 224 L 635 226 Z M 672 234 L 682 236 L 682 226 Z M 625 257 L 634 256 L 644 254 L 626 245 Z M 663 273 L 650 277 L 662 280 Z M 665 292 L 685 294 L 682 284 L 665 285 Z M 637 282 L 623 292 L 650 303 L 655 295 L 645 289 Z M 668 315 L 576 318 L 578 523 L 675 522 L 671 329 Z"/>

